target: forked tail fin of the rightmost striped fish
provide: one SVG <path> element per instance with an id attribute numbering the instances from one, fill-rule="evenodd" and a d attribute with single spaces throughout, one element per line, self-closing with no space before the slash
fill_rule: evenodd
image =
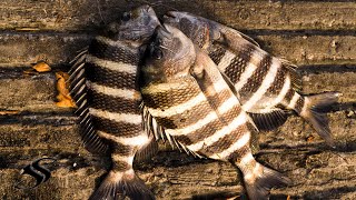
<path id="1" fill-rule="evenodd" d="M 325 92 L 304 97 L 305 107 L 300 112 L 300 116 L 312 123 L 317 133 L 324 138 L 330 147 L 335 147 L 335 144 L 325 110 L 336 103 L 340 96 L 338 92 Z"/>

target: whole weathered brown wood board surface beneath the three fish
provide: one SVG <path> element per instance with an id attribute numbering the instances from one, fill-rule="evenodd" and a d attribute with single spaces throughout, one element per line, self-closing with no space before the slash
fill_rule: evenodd
<path id="1" fill-rule="evenodd" d="M 151 1 L 156 2 L 156 1 Z M 100 7 L 98 7 L 98 3 Z M 273 54 L 301 66 L 303 92 L 337 90 L 342 104 L 330 112 L 336 149 L 325 146 L 309 124 L 295 116 L 260 133 L 264 164 L 294 183 L 271 191 L 274 199 L 356 198 L 356 2 L 167 0 L 189 11 L 235 27 Z M 1 199 L 86 199 L 108 159 L 88 153 L 77 134 L 71 109 L 57 108 L 53 71 L 109 22 L 139 1 L 3 0 L 0 2 L 0 197 Z M 167 7 L 166 7 L 167 6 Z M 52 72 L 24 74 L 46 60 Z M 52 178 L 34 190 L 13 188 L 19 171 L 40 157 L 56 157 Z M 151 161 L 137 164 L 158 199 L 237 196 L 239 176 L 229 163 L 199 160 L 161 147 Z"/>

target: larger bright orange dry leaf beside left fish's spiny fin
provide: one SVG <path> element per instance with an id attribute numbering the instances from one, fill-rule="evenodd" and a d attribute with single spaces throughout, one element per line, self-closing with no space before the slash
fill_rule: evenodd
<path id="1" fill-rule="evenodd" d="M 66 81 L 68 80 L 69 74 L 65 72 L 56 72 L 56 79 L 57 79 L 57 100 L 56 102 L 57 107 L 63 107 L 63 108 L 75 108 L 76 103 L 69 96 L 68 84 Z"/>

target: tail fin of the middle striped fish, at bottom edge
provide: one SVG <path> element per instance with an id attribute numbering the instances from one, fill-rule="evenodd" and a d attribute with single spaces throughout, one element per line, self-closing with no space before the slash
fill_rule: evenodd
<path id="1" fill-rule="evenodd" d="M 260 167 L 263 168 L 263 172 L 260 174 L 256 174 L 255 179 L 247 180 L 248 178 L 246 176 L 244 177 L 249 199 L 268 199 L 270 189 L 290 184 L 291 181 L 281 173 L 263 166 Z"/>

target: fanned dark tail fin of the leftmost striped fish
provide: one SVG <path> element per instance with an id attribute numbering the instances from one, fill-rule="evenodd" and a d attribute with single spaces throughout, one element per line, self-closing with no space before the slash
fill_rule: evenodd
<path id="1" fill-rule="evenodd" d="M 126 198 L 154 200 L 155 196 L 145 182 L 135 174 L 134 170 L 127 172 L 110 171 L 89 200 L 121 200 Z"/>

